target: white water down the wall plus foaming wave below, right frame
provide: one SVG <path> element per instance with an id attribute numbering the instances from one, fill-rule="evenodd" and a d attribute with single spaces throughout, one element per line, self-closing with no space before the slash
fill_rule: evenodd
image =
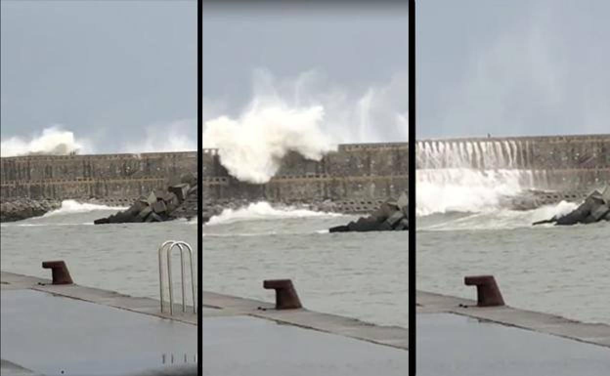
<path id="1" fill-rule="evenodd" d="M 561 202 L 535 210 L 501 207 L 501 197 L 534 187 L 523 169 L 528 141 L 420 141 L 417 143 L 417 214 L 425 230 L 482 230 L 530 227 L 563 216 L 576 204 Z M 519 152 L 520 151 L 520 152 Z"/>

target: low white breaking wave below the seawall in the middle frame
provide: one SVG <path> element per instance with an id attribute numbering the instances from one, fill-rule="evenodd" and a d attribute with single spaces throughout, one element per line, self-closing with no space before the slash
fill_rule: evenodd
<path id="1" fill-rule="evenodd" d="M 220 215 L 212 216 L 208 225 L 230 224 L 241 221 L 260 221 L 285 218 L 331 217 L 339 213 L 325 213 L 295 207 L 274 208 L 268 202 L 256 202 L 239 209 L 225 209 Z"/>

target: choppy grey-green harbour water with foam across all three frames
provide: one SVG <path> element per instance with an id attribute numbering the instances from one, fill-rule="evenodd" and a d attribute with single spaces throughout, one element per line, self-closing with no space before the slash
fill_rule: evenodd
<path id="1" fill-rule="evenodd" d="M 49 277 L 41 261 L 65 260 L 76 283 L 158 299 L 157 247 L 195 246 L 196 222 L 91 225 L 110 211 L 89 209 L 2 224 L 2 270 Z M 464 276 L 493 274 L 513 307 L 610 324 L 610 227 L 529 226 L 556 210 L 420 218 L 417 288 L 475 299 Z M 407 232 L 326 231 L 352 219 L 267 204 L 226 212 L 204 225 L 203 288 L 273 302 L 262 281 L 292 278 L 307 308 L 406 326 Z"/>

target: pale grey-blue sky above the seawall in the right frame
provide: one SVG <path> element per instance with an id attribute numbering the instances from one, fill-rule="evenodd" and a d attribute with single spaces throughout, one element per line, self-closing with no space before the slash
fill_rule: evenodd
<path id="1" fill-rule="evenodd" d="M 610 132 L 610 2 L 418 2 L 418 138 Z"/>

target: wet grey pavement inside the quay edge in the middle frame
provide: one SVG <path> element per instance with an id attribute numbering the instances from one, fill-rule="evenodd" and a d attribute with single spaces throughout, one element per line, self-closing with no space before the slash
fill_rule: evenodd
<path id="1" fill-rule="evenodd" d="M 203 321 L 204 375 L 406 375 L 407 352 L 248 316 Z"/>

